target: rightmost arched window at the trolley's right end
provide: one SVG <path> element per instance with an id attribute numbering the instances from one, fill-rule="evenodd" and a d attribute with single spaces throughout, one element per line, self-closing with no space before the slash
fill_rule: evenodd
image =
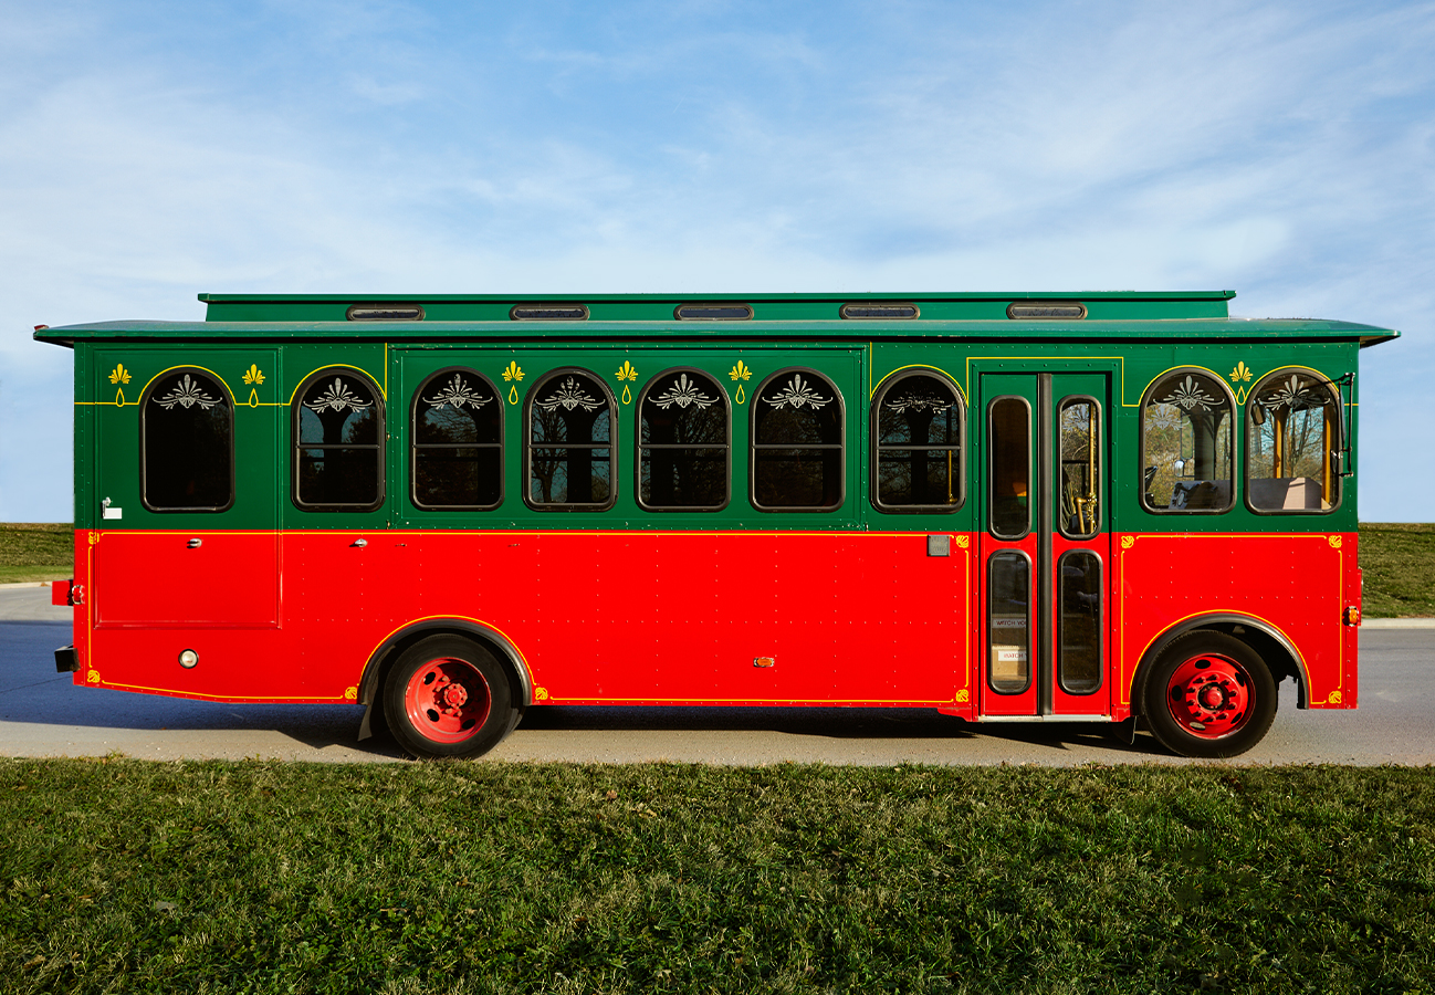
<path id="1" fill-rule="evenodd" d="M 1254 511 L 1340 504 L 1340 395 L 1307 369 L 1280 369 L 1246 403 L 1246 500 Z"/>

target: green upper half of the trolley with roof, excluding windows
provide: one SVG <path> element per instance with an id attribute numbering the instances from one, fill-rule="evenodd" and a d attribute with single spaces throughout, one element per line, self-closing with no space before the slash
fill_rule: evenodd
<path id="1" fill-rule="evenodd" d="M 1106 465 L 1102 528 L 1111 531 L 1352 531 L 1355 477 L 1320 514 L 1257 514 L 1243 500 L 1221 514 L 1155 513 L 1142 504 L 1141 408 L 1175 370 L 1204 372 L 1244 409 L 1261 378 L 1312 370 L 1337 380 L 1356 372 L 1358 349 L 1396 337 L 1388 329 L 1310 319 L 1225 317 L 1231 291 L 1099 294 L 784 294 L 784 296 L 218 296 L 207 322 L 106 322 L 39 329 L 36 339 L 76 347 L 76 525 L 121 528 L 808 528 L 982 531 L 989 485 L 983 468 L 984 406 L 1039 372 L 1089 375 L 1082 386 L 1104 409 Z M 1083 319 L 1013 319 L 1013 306 L 1079 304 Z M 519 304 L 583 304 L 588 320 L 511 320 Z M 752 320 L 677 320 L 680 304 L 745 304 Z M 842 319 L 844 304 L 897 303 L 916 319 Z M 423 320 L 344 320 L 352 307 L 416 306 Z M 413 500 L 412 411 L 428 378 L 464 368 L 501 398 L 505 482 L 499 507 L 433 511 Z M 769 376 L 808 368 L 841 401 L 842 498 L 828 511 L 756 507 L 751 484 L 753 396 Z M 872 501 L 871 403 L 903 370 L 937 370 L 964 406 L 960 477 L 950 513 L 891 514 Z M 214 378 L 234 412 L 237 482 L 217 513 L 155 513 L 141 500 L 141 408 L 166 370 Z M 304 510 L 297 472 L 296 392 L 320 370 L 356 370 L 376 389 L 387 432 L 382 503 L 362 511 Z M 616 492 L 611 508 L 544 510 L 525 501 L 522 454 L 531 392 L 554 370 L 587 370 L 614 399 Z M 654 513 L 639 507 L 634 449 L 637 399 L 663 370 L 690 369 L 726 393 L 730 498 L 716 511 Z M 739 376 L 740 373 L 740 376 Z M 1003 379 L 1004 378 L 1004 379 Z M 1075 382 L 1075 380 L 1072 380 Z M 1007 386 L 1003 386 L 1007 385 Z M 1010 386 L 1016 385 L 1016 386 Z M 428 388 L 422 388 L 428 389 Z M 1342 389 L 1355 426 L 1358 398 Z M 878 398 L 880 399 L 880 398 Z M 1244 424 L 1244 422 L 1241 422 Z M 1244 429 L 1243 429 L 1244 431 Z M 1243 491 L 1244 444 L 1236 441 Z M 946 457 L 943 457 L 946 458 Z M 964 464 L 964 465 L 963 465 Z M 109 505 L 105 505 L 105 501 Z M 125 510 L 122 520 L 100 515 Z"/>

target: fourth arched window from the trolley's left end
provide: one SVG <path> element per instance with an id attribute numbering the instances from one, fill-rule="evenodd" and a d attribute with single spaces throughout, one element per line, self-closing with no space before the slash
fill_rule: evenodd
<path id="1" fill-rule="evenodd" d="M 613 507 L 613 395 L 584 369 L 561 369 L 528 392 L 524 498 L 538 510 Z"/>

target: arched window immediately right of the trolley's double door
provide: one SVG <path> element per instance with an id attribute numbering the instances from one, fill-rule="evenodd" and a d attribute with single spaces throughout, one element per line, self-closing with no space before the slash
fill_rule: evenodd
<path id="1" fill-rule="evenodd" d="M 1231 399 L 1218 379 L 1178 370 L 1155 383 L 1141 406 L 1147 507 L 1228 508 L 1233 439 Z"/>

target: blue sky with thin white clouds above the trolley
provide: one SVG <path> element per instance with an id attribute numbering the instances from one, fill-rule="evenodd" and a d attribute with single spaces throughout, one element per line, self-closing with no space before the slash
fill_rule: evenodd
<path id="1" fill-rule="evenodd" d="M 1435 520 L 1435 4 L 0 6 L 0 520 L 34 324 L 217 293 L 1236 289 L 1401 329 L 1360 513 Z"/>

